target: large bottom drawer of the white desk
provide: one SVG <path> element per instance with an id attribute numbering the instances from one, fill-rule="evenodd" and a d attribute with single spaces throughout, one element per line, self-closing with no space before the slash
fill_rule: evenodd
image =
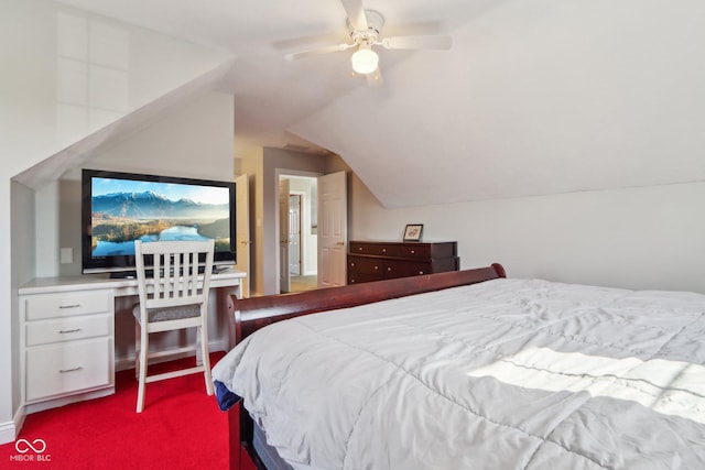
<path id="1" fill-rule="evenodd" d="M 110 385 L 111 363 L 110 338 L 28 349 L 25 400 Z"/>

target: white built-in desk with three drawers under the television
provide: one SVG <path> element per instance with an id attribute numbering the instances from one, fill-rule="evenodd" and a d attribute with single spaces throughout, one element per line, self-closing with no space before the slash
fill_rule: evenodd
<path id="1" fill-rule="evenodd" d="M 245 276 L 236 270 L 210 276 L 218 309 L 240 296 Z M 18 294 L 25 412 L 115 393 L 115 299 L 138 295 L 137 278 L 40 277 Z"/>

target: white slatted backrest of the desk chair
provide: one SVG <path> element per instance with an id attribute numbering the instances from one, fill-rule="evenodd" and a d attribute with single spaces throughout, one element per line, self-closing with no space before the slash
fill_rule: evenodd
<path id="1" fill-rule="evenodd" d="M 135 241 L 140 303 L 145 308 L 207 303 L 213 252 L 213 240 Z"/>

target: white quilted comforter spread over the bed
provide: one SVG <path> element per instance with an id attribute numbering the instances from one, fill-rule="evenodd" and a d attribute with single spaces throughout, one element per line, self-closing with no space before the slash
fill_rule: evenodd
<path id="1" fill-rule="evenodd" d="M 296 469 L 705 469 L 705 295 L 497 280 L 295 318 L 214 369 Z"/>

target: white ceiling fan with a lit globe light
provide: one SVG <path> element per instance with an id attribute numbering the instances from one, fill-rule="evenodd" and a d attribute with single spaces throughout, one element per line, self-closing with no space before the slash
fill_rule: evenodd
<path id="1" fill-rule="evenodd" d="M 375 46 L 387 50 L 447 50 L 453 44 L 452 37 L 447 35 L 384 37 L 381 34 L 384 17 L 380 12 L 365 9 L 361 0 L 340 0 L 340 2 L 348 15 L 347 26 L 351 42 L 286 54 L 284 56 L 286 59 L 294 61 L 356 48 L 357 51 L 350 57 L 352 72 L 366 76 L 369 85 L 378 85 L 381 83 L 381 74 Z"/>

